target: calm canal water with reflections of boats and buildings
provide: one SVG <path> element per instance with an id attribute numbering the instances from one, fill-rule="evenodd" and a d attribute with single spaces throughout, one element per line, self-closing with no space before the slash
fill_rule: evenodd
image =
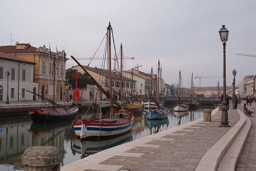
<path id="1" fill-rule="evenodd" d="M 33 123 L 29 116 L 3 117 L 0 119 L 0 171 L 23 170 L 21 157 L 31 146 L 50 145 L 57 147 L 62 153 L 61 166 L 82 159 L 88 155 L 120 145 L 134 139 L 173 128 L 203 117 L 203 109 L 214 109 L 213 106 L 189 108 L 188 112 L 174 112 L 170 108 L 168 119 L 148 121 L 144 112 L 135 114 L 132 131 L 108 139 L 80 141 L 75 138 L 71 128 L 72 121 L 54 123 Z M 86 109 L 81 109 L 77 118 L 82 118 Z M 85 118 L 93 117 L 88 112 Z M 22 123 L 21 123 L 22 121 Z"/>

